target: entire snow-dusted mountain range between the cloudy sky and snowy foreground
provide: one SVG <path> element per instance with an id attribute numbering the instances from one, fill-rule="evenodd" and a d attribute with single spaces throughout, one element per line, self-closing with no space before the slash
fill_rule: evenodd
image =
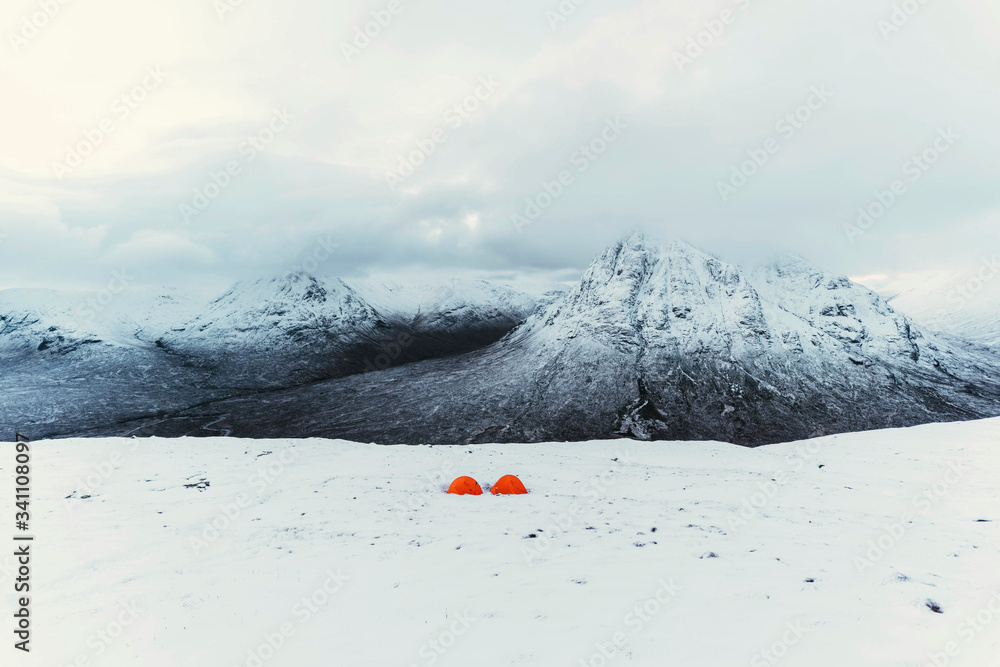
<path id="1" fill-rule="evenodd" d="M 153 303 L 80 322 L 64 295 L 0 292 L 0 428 L 757 445 L 1000 415 L 989 348 L 801 258 L 741 269 L 638 234 L 542 299 L 300 273 Z"/>

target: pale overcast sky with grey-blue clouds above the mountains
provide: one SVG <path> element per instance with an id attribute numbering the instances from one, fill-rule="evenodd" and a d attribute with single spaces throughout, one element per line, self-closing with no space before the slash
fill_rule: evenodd
<path id="1" fill-rule="evenodd" d="M 978 265 L 1000 4 L 902 5 L 5 0 L 0 287 L 572 278 L 632 229 L 849 275 Z"/>

